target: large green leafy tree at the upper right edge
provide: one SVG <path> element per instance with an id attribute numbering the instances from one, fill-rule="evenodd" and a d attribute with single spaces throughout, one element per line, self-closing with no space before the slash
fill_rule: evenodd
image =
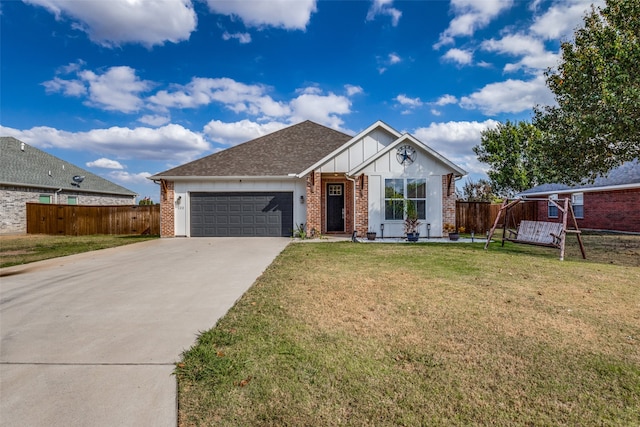
<path id="1" fill-rule="evenodd" d="M 562 61 L 547 71 L 557 105 L 537 108 L 545 133 L 540 168 L 575 183 L 640 157 L 640 1 L 592 8 Z"/>

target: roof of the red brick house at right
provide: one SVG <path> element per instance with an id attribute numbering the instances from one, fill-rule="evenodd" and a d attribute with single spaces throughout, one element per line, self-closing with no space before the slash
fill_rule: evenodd
<path id="1" fill-rule="evenodd" d="M 640 161 L 623 163 L 612 169 L 606 176 L 599 176 L 591 183 L 566 185 L 542 184 L 523 191 L 519 196 L 541 196 L 566 191 L 606 191 L 640 188 Z"/>

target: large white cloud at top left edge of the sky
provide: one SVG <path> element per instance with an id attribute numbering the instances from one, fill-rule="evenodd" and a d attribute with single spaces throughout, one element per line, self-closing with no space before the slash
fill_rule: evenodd
<path id="1" fill-rule="evenodd" d="M 191 0 L 24 0 L 46 8 L 107 47 L 141 43 L 151 47 L 188 40 L 197 17 Z"/>

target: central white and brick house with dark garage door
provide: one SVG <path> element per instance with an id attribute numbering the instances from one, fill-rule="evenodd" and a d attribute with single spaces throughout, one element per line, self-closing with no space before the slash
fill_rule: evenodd
<path id="1" fill-rule="evenodd" d="M 160 184 L 162 236 L 400 237 L 412 200 L 420 232 L 455 223 L 455 181 L 466 172 L 378 121 L 356 136 L 305 121 L 149 179 Z M 384 230 L 383 230 L 384 227 Z"/>

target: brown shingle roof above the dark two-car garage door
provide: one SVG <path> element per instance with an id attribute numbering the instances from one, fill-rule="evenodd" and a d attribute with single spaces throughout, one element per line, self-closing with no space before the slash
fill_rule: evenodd
<path id="1" fill-rule="evenodd" d="M 305 170 L 350 139 L 307 120 L 149 178 L 288 176 Z"/>

